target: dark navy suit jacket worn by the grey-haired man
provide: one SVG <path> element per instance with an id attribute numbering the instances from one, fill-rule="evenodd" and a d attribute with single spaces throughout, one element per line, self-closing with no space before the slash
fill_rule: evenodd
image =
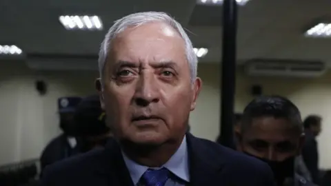
<path id="1" fill-rule="evenodd" d="M 217 143 L 187 134 L 192 186 L 273 186 L 270 167 Z M 119 145 L 94 150 L 46 168 L 43 186 L 133 186 Z"/>

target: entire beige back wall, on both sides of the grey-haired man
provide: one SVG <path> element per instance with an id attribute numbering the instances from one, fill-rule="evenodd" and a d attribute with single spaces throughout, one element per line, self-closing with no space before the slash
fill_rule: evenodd
<path id="1" fill-rule="evenodd" d="M 214 140 L 219 132 L 219 66 L 199 66 L 203 90 L 197 109 L 191 115 L 192 133 Z M 35 72 L 22 63 L 0 64 L 0 165 L 40 155 L 44 145 L 59 134 L 57 98 L 59 96 L 87 95 L 94 93 L 94 72 Z M 330 83 L 331 72 L 320 79 L 248 78 L 241 70 L 237 73 L 235 109 L 241 112 L 252 99 L 250 86 L 263 86 L 265 94 L 288 96 L 298 105 L 303 116 L 321 114 L 324 118 L 323 133 L 319 137 L 321 167 L 331 168 L 331 151 L 328 133 L 331 126 Z M 39 96 L 34 81 L 48 83 L 48 94 Z"/>

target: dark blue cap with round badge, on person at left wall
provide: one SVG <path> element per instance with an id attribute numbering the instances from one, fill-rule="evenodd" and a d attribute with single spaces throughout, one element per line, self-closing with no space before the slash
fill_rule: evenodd
<path id="1" fill-rule="evenodd" d="M 77 105 L 81 103 L 81 97 L 62 97 L 57 100 L 59 113 L 75 112 Z"/>

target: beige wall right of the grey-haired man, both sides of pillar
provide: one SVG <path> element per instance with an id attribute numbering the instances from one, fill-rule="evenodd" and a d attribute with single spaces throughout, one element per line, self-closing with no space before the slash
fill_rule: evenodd
<path id="1" fill-rule="evenodd" d="M 199 75 L 204 85 L 197 110 L 192 114 L 192 132 L 203 138 L 214 140 L 219 132 L 220 78 L 218 65 L 201 65 Z M 235 111 L 242 112 L 253 99 L 252 85 L 261 85 L 263 94 L 287 96 L 301 110 L 304 118 L 308 114 L 323 117 L 323 132 L 319 136 L 320 167 L 331 168 L 331 71 L 317 79 L 295 79 L 275 77 L 248 77 L 239 68 L 235 95 Z"/>

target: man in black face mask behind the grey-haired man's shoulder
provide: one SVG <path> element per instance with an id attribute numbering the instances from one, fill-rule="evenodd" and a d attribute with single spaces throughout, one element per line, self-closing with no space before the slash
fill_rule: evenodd
<path id="1" fill-rule="evenodd" d="M 277 185 L 313 185 L 294 173 L 304 141 L 298 108 L 281 96 L 260 96 L 243 112 L 239 150 L 268 163 Z"/>

